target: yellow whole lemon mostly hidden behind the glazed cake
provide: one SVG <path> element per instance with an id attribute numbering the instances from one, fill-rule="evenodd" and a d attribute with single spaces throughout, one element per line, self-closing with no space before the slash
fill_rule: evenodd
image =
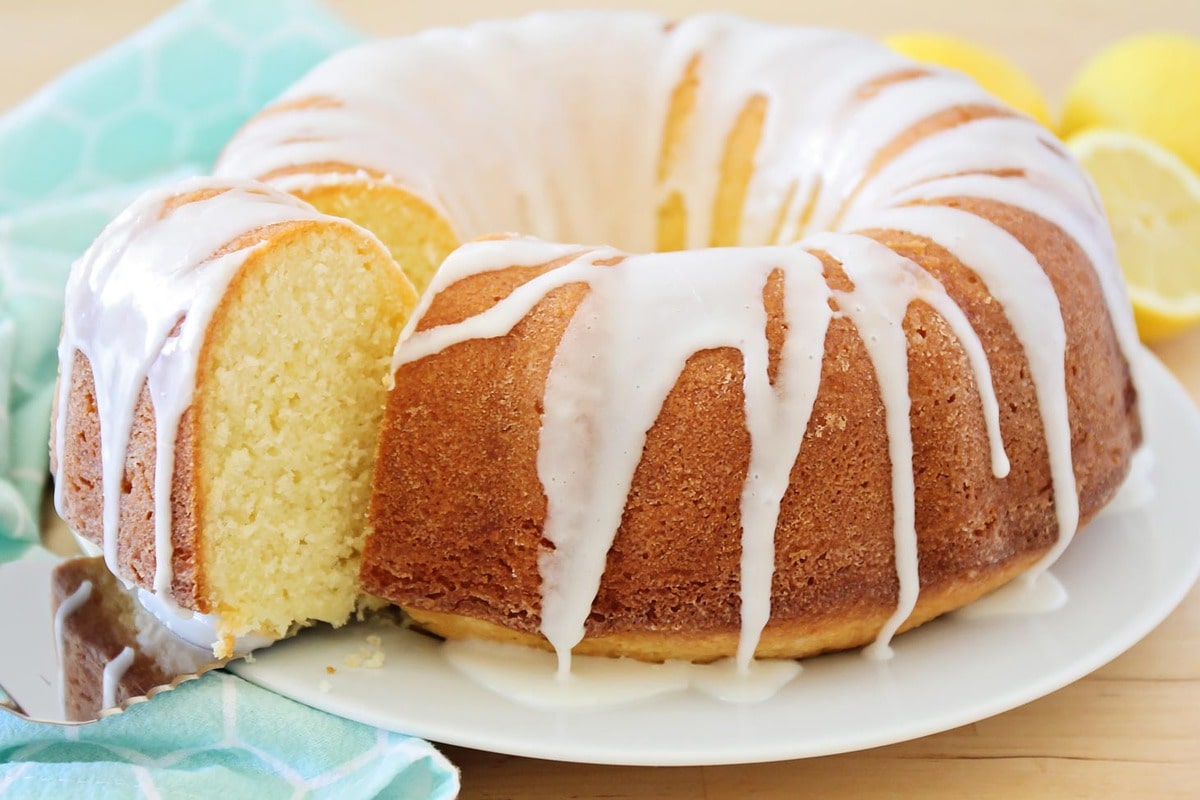
<path id="1" fill-rule="evenodd" d="M 944 34 L 894 34 L 884 43 L 917 61 L 966 73 L 1008 106 L 1050 127 L 1046 101 L 1037 84 L 995 50 Z"/>

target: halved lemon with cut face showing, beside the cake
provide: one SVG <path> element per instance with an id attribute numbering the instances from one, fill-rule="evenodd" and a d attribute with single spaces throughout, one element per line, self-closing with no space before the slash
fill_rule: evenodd
<path id="1" fill-rule="evenodd" d="M 1100 192 L 1142 341 L 1200 324 L 1200 176 L 1122 131 L 1087 131 L 1067 146 Z"/>

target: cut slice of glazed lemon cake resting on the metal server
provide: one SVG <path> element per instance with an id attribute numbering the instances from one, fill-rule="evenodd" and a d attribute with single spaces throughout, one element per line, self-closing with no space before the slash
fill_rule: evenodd
<path id="1" fill-rule="evenodd" d="M 415 300 L 373 235 L 277 190 L 204 179 L 143 197 L 67 283 L 59 513 L 217 655 L 344 622 Z"/>

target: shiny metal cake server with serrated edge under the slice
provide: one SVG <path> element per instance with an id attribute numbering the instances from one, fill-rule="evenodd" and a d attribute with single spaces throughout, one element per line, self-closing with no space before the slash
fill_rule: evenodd
<path id="1" fill-rule="evenodd" d="M 64 664 L 52 600 L 56 570 L 66 570 L 59 581 L 71 594 L 89 576 L 95 577 L 88 581 L 91 589 L 79 593 L 88 600 L 80 600 L 80 608 L 70 615 L 79 615 L 72 632 L 90 646 L 67 648 Z M 86 608 L 88 603 L 92 606 Z M 104 616 L 114 614 L 126 624 L 108 625 L 112 620 Z M 64 615 L 64 621 L 70 624 L 70 616 Z M 137 620 L 136 628 L 127 624 L 131 619 Z M 124 655 L 120 663 L 114 663 L 116 654 Z M 32 722 L 86 724 L 234 658 L 214 658 L 211 651 L 188 644 L 136 608 L 132 595 L 107 575 L 101 558 L 30 558 L 0 565 L 0 710 Z"/>

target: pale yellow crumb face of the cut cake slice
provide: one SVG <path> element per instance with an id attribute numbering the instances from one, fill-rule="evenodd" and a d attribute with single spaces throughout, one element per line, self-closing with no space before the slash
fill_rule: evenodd
<path id="1" fill-rule="evenodd" d="M 224 632 L 342 622 L 359 596 L 384 377 L 414 297 L 346 230 L 299 227 L 251 255 L 204 348 L 200 547 Z"/>

